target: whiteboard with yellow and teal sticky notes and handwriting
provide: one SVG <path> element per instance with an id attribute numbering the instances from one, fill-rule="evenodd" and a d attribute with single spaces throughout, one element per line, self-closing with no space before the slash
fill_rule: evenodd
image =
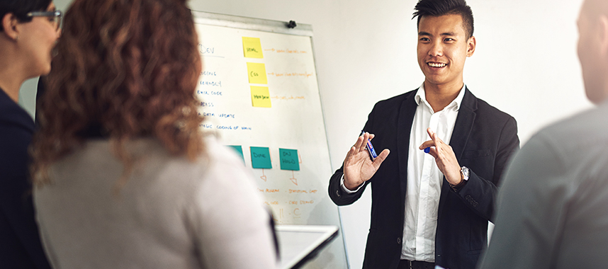
<path id="1" fill-rule="evenodd" d="M 203 59 L 196 88 L 199 113 L 206 118 L 203 131 L 240 147 L 277 224 L 341 227 L 337 206 L 327 195 L 333 171 L 312 27 L 290 29 L 284 22 L 198 11 L 193 15 Z M 260 50 L 261 58 L 245 57 L 244 38 L 259 38 L 254 51 Z M 259 81 L 263 75 L 266 80 Z M 259 93 L 260 87 L 267 93 Z M 304 268 L 347 268 L 342 233 Z"/>

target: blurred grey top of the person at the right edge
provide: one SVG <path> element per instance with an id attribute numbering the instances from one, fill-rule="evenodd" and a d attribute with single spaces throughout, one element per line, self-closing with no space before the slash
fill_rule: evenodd
<path id="1" fill-rule="evenodd" d="M 500 187 L 480 268 L 608 266 L 608 104 L 534 135 Z"/>

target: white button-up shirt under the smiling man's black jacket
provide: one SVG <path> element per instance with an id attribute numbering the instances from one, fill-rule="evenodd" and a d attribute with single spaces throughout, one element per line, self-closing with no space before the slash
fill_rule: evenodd
<path id="1" fill-rule="evenodd" d="M 437 212 L 444 174 L 439 171 L 433 156 L 425 154 L 418 147 L 431 139 L 427 133 L 427 127 L 436 132 L 444 143 L 450 143 L 458 109 L 460 109 L 464 96 L 464 88 L 465 85 L 454 101 L 437 113 L 427 102 L 424 83 L 416 93 L 415 101 L 418 107 L 410 130 L 402 260 L 435 262 Z M 342 176 L 340 184 L 346 193 L 356 193 L 364 185 L 359 185 L 356 190 L 349 190 L 344 186 L 344 176 Z"/>

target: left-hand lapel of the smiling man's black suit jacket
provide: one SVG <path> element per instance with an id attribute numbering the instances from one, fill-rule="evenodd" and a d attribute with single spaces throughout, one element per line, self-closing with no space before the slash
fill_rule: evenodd
<path id="1" fill-rule="evenodd" d="M 397 148 L 398 148 L 398 163 L 399 163 L 399 179 L 401 187 L 401 207 L 405 207 L 405 192 L 407 188 L 407 161 L 410 151 L 410 131 L 412 130 L 412 122 L 418 107 L 415 96 L 417 91 L 412 91 L 401 103 L 399 108 L 399 118 L 397 123 Z M 404 208 L 402 208 L 403 212 Z"/>

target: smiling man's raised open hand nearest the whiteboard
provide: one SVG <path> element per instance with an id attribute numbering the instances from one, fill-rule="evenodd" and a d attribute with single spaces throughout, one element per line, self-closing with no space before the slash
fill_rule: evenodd
<path id="1" fill-rule="evenodd" d="M 373 139 L 374 135 L 366 132 L 359 136 L 356 143 L 344 159 L 344 187 L 349 190 L 356 190 L 362 183 L 368 181 L 390 153 L 384 149 L 374 161 L 371 161 L 369 152 L 365 148 L 367 139 Z"/>

